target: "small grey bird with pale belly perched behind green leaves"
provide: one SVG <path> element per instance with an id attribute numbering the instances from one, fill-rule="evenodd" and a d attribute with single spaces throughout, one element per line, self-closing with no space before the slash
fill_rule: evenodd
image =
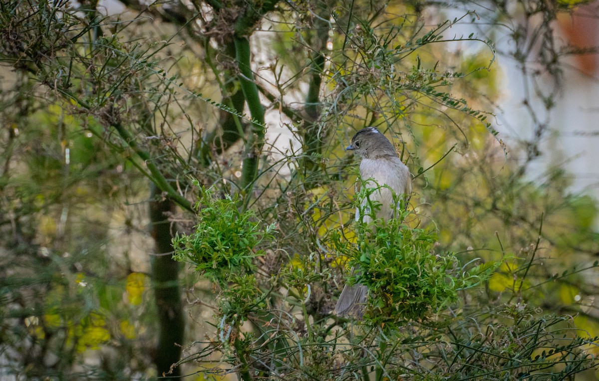
<path id="1" fill-rule="evenodd" d="M 380 209 L 376 211 L 376 217 L 382 218 L 384 221 L 390 220 L 394 217 L 398 207 L 393 202 L 393 193 L 404 194 L 406 200 L 412 193 L 412 176 L 410 176 L 408 167 L 397 157 L 395 147 L 389 139 L 375 127 L 359 130 L 353 136 L 352 144 L 346 150 L 356 151 L 362 157 L 361 178 L 364 180 L 374 179 L 374 181 L 368 181 L 365 186 L 380 187 L 370 196 L 371 201 L 381 204 Z M 388 187 L 383 185 L 388 185 Z M 366 200 L 364 201 L 366 202 Z M 356 220 L 359 218 L 359 211 L 356 211 Z M 373 220 L 370 215 L 364 215 L 362 218 L 364 222 Z M 346 284 L 339 295 L 335 310 L 339 315 L 352 313 L 362 316 L 367 292 L 368 289 L 364 285 Z"/>

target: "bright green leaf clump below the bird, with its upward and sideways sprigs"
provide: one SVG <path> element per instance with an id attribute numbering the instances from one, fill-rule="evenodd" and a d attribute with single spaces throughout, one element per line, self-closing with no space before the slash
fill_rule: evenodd
<path id="1" fill-rule="evenodd" d="M 371 179 L 369 181 L 372 181 Z M 379 187 L 365 187 L 356 195 L 359 215 L 370 214 L 380 208 L 371 200 Z M 341 240 L 341 234 L 331 234 L 332 245 L 338 254 L 349 259 L 355 269 L 350 284 L 368 287 L 370 297 L 365 319 L 372 324 L 427 318 L 458 300 L 459 289 L 470 288 L 488 280 L 500 262 L 490 261 L 465 271 L 453 253 L 435 254 L 437 237 L 422 228 L 410 227 L 403 195 L 394 195 L 400 205 L 397 216 L 389 221 L 375 219 L 356 222 L 356 243 Z"/>

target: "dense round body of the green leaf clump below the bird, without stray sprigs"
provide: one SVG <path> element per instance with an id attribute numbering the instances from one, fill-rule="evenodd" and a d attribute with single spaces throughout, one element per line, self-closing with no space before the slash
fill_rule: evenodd
<path id="1" fill-rule="evenodd" d="M 350 263 L 361 269 L 354 281 L 370 290 L 367 319 L 422 319 L 429 310 L 437 312 L 458 299 L 452 275 L 457 260 L 451 254 L 433 254 L 434 235 L 399 220 L 366 235 Z"/>

